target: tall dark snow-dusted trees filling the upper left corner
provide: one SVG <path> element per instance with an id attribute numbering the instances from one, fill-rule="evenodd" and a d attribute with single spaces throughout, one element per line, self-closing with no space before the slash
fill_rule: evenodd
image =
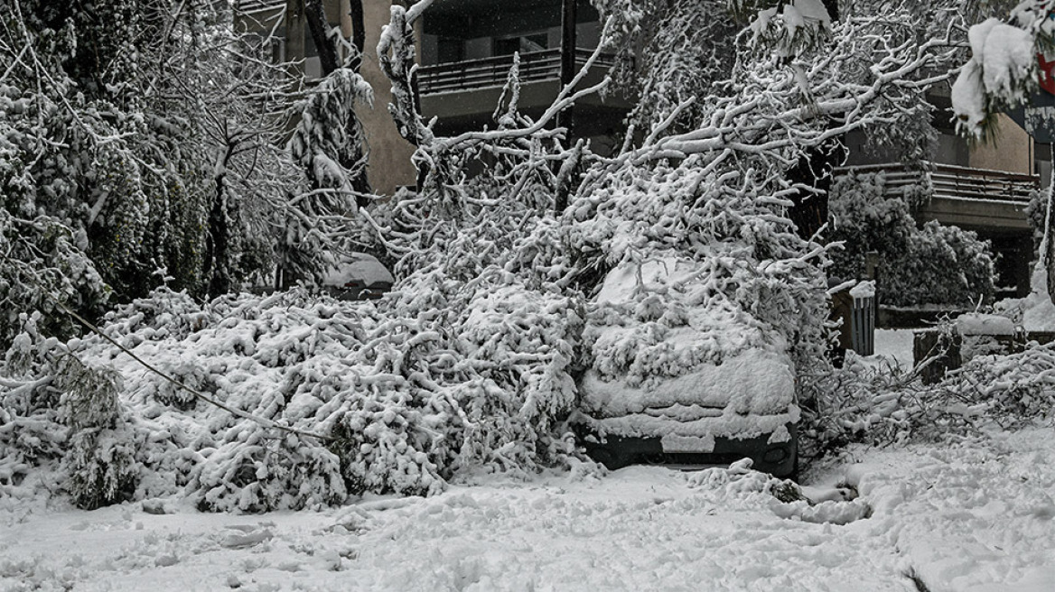
<path id="1" fill-rule="evenodd" d="M 321 273 L 312 253 L 349 225 L 319 220 L 353 209 L 314 203 L 318 180 L 283 145 L 298 92 L 266 43 L 233 32 L 230 8 L 166 0 L 9 7 L 0 19 L 9 245 L 0 264 L 41 276 L 4 274 L 27 287 L 0 288 L 13 310 L 50 311 L 50 298 L 93 316 L 111 296 L 127 301 L 162 283 L 215 296 L 268 281 L 276 260 L 294 277 Z M 328 107 L 319 108 L 327 123 Z M 6 230 L 16 226 L 24 230 L 17 240 Z M 290 252 L 301 255 L 279 256 Z M 54 264 L 40 264 L 45 254 Z M 55 285 L 49 268 L 73 281 Z M 44 324 L 63 323 L 69 331 L 61 319 Z M 11 319 L 0 327 L 0 342 L 12 328 Z"/>

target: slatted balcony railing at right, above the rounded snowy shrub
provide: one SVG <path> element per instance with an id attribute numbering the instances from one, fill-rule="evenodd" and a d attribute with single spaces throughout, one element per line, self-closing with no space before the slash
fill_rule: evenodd
<path id="1" fill-rule="evenodd" d="M 934 188 L 934 197 L 1014 203 L 1029 203 L 1030 195 L 1040 188 L 1039 175 L 937 163 L 927 169 L 909 169 L 901 163 L 867 164 L 839 167 L 836 175 L 848 172 L 886 173 L 886 193 L 890 195 L 903 195 L 910 188 L 928 184 Z"/>

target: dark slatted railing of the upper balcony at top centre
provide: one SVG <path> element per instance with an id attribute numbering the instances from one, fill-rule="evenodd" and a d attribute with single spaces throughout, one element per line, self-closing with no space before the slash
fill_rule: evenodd
<path id="1" fill-rule="evenodd" d="M 577 47 L 575 65 L 586 64 L 593 50 Z M 610 66 L 612 59 L 602 56 L 597 65 Z M 497 56 L 479 60 L 441 63 L 418 68 L 418 86 L 421 94 L 471 91 L 505 84 L 513 56 Z M 544 50 L 520 54 L 520 82 L 537 82 L 560 78 L 560 50 Z"/>

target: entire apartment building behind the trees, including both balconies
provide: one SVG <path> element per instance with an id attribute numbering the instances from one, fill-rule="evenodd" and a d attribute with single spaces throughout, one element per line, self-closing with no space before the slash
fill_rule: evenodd
<path id="1" fill-rule="evenodd" d="M 389 82 L 376 55 L 391 4 L 391 0 L 362 0 L 366 37 L 362 74 L 373 86 L 375 102 L 372 107 L 361 105 L 358 113 L 369 142 L 369 180 L 382 194 L 415 183 L 414 149 L 399 136 L 387 112 Z M 275 43 L 276 57 L 303 58 L 304 75 L 311 80 L 322 70 L 303 18 L 296 19 L 294 8 L 301 5 L 299 0 L 239 0 L 245 15 L 239 26 L 262 33 L 273 29 L 282 40 Z M 345 36 L 352 34 L 349 8 L 349 0 L 325 1 L 327 19 Z M 295 31 L 287 31 L 290 22 L 299 22 Z M 437 0 L 417 23 L 421 113 L 426 120 L 436 118 L 439 134 L 493 126 L 513 56 L 519 54 L 520 111 L 537 117 L 557 96 L 562 81 L 597 47 L 600 28 L 599 16 L 588 0 Z M 583 83 L 598 82 L 603 70 L 589 73 Z M 919 221 L 937 219 L 991 240 L 1000 254 L 1005 295 L 1022 296 L 1029 290 L 1033 258 L 1024 209 L 1031 192 L 1051 178 L 1050 146 L 1034 142 L 1004 116 L 996 145 L 970 145 L 953 130 L 947 92 L 935 92 L 932 101 L 939 110 L 934 117 L 938 141 L 927 157 L 931 171 L 898 162 L 865 133 L 845 138 L 846 166 L 886 171 L 893 192 L 929 182 L 935 197 L 917 212 Z M 562 123 L 570 124 L 573 136 L 590 138 L 593 149 L 603 153 L 616 147 L 631 106 L 622 96 L 591 96 L 576 104 L 571 121 Z"/>

